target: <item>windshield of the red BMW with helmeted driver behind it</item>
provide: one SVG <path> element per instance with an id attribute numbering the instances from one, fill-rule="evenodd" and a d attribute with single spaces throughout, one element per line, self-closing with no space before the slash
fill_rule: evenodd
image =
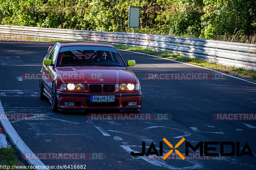
<path id="1" fill-rule="evenodd" d="M 90 46 L 62 47 L 58 64 L 60 67 L 76 65 L 126 67 L 115 48 Z"/>

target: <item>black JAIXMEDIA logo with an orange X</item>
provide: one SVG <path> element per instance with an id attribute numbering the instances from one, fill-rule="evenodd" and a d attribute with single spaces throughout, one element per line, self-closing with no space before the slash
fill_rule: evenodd
<path id="1" fill-rule="evenodd" d="M 170 148 L 170 151 L 167 152 L 163 156 L 163 141 L 165 144 L 167 144 Z M 198 142 L 196 145 L 192 145 L 189 142 L 185 142 L 185 155 L 184 153 L 181 154 L 180 151 L 178 151 L 178 147 L 185 141 L 185 138 L 182 138 L 174 147 L 173 145 L 167 140 L 163 139 L 163 141 L 159 142 L 159 153 L 156 149 L 155 144 L 152 142 L 148 148 L 148 151 L 146 152 L 146 142 L 142 141 L 142 152 L 141 153 L 134 153 L 131 152 L 132 156 L 148 156 L 148 155 L 156 155 L 156 156 L 163 156 L 163 159 L 167 159 L 173 152 L 180 156 L 181 159 L 186 159 L 185 156 L 189 156 L 189 148 L 192 151 L 196 151 L 199 149 L 200 156 L 243 156 L 243 155 L 251 155 L 252 151 L 246 142 L 244 144 L 244 147 L 242 150 L 240 150 L 240 142 L 230 142 L 230 141 L 224 141 L 224 142 L 218 142 L 218 141 L 205 141 L 205 142 Z M 215 145 L 215 147 L 213 147 Z M 220 146 L 220 152 L 217 152 L 217 146 Z M 153 151 L 151 151 L 153 149 Z M 180 150 L 180 149 L 179 149 Z M 146 153 L 146 154 L 145 154 Z"/>

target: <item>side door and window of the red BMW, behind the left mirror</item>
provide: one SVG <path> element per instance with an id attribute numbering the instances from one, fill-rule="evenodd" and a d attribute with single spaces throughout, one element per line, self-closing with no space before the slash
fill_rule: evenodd
<path id="1" fill-rule="evenodd" d="M 52 94 L 52 81 L 53 81 L 54 75 L 56 74 L 54 64 L 56 62 L 58 51 L 59 51 L 59 46 L 56 44 L 52 47 L 51 51 L 46 57 L 46 59 L 52 60 L 52 64 L 45 65 L 43 70 L 44 71 L 44 88 L 49 95 Z"/>

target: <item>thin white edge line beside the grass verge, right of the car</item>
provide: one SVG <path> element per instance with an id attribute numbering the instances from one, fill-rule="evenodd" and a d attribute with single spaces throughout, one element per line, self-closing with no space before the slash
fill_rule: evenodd
<path id="1" fill-rule="evenodd" d="M 117 49 L 117 50 L 128 51 L 128 50 L 124 50 L 124 49 Z M 144 53 L 138 53 L 138 52 L 134 52 L 134 51 L 129 51 L 129 52 L 137 53 L 137 54 L 142 54 L 142 55 L 149 55 L 149 56 L 156 57 L 156 58 L 162 58 L 162 59 L 164 59 L 164 60 L 170 60 L 170 61 L 173 61 L 173 62 L 182 63 L 182 64 L 187 64 L 187 65 L 194 66 L 194 67 L 198 67 L 198 68 L 201 68 L 201 69 L 214 71 L 214 72 L 216 72 L 216 73 L 220 73 L 220 74 L 222 74 L 222 75 L 225 75 L 225 76 L 228 76 L 228 77 L 232 77 L 232 78 L 236 78 L 236 79 L 239 79 L 239 80 L 243 80 L 243 81 L 246 81 L 246 82 L 248 82 L 248 83 L 251 83 L 251 84 L 255 84 L 255 85 L 256 85 L 256 83 L 253 83 L 253 82 L 250 82 L 250 81 L 247 81 L 247 80 L 244 80 L 244 79 L 242 79 L 242 78 L 235 77 L 235 76 L 231 76 L 231 75 L 229 75 L 229 74 L 226 74 L 226 73 L 223 73 L 223 72 L 220 72 L 220 71 L 217 71 L 217 70 L 212 70 L 212 69 L 200 67 L 200 66 L 193 65 L 193 64 L 183 63 L 183 62 L 171 60 L 171 59 L 168 59 L 168 58 L 158 57 L 158 56 L 155 56 L 155 55 L 144 54 Z"/>

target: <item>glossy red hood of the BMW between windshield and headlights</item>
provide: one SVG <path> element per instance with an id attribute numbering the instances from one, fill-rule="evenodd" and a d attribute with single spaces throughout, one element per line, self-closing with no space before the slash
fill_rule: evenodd
<path id="1" fill-rule="evenodd" d="M 137 83 L 137 78 L 128 68 L 108 66 L 58 67 L 66 83 L 122 84 Z M 103 79 L 104 81 L 100 81 Z"/>

